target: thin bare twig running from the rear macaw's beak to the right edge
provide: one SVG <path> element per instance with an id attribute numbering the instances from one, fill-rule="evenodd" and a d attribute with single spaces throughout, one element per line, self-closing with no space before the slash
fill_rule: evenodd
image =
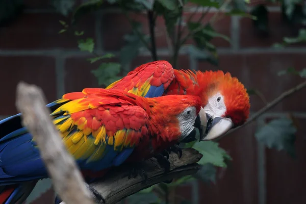
<path id="1" fill-rule="evenodd" d="M 239 129 L 241 129 L 241 127 L 244 127 L 245 125 L 251 123 L 252 121 L 256 120 L 257 118 L 259 118 L 261 115 L 263 115 L 264 113 L 266 113 L 267 111 L 269 111 L 271 108 L 273 108 L 274 106 L 276 106 L 278 103 L 280 103 L 282 100 L 284 100 L 285 98 L 287 98 L 288 96 L 292 95 L 293 93 L 301 90 L 302 88 L 306 87 L 306 81 L 298 84 L 297 86 L 285 91 L 284 93 L 282 93 L 281 95 L 279 95 L 277 98 L 275 98 L 274 100 L 272 100 L 270 103 L 268 103 L 264 108 L 262 108 L 261 110 L 259 110 L 258 112 L 256 112 L 252 117 L 250 117 L 243 125 L 240 125 L 238 127 L 236 127 L 235 129 L 228 131 L 226 134 L 224 134 L 222 137 L 224 137 L 227 134 L 231 134 L 234 131 L 237 131 Z M 220 138 L 222 138 L 220 137 Z"/>

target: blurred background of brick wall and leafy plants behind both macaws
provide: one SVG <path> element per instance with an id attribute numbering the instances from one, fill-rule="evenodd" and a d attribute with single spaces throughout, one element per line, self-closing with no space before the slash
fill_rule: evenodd
<path id="1" fill-rule="evenodd" d="M 16 114 L 19 81 L 48 100 L 105 87 L 154 60 L 223 70 L 250 94 L 251 116 L 218 143 L 203 168 L 121 203 L 306 203 L 306 4 L 299 0 L 0 0 L 0 117 Z M 304 87 L 305 85 L 301 85 Z M 203 147 L 203 146 L 202 146 Z M 165 198 L 167 197 L 167 199 Z M 49 180 L 27 203 L 54 203 Z"/>

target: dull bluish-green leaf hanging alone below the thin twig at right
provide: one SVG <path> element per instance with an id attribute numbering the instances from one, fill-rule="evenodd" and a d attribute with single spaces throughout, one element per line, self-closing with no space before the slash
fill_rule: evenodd
<path id="1" fill-rule="evenodd" d="M 295 157 L 294 142 L 296 131 L 292 120 L 278 118 L 260 127 L 255 133 L 255 137 L 268 148 L 286 150 L 290 156 Z"/>

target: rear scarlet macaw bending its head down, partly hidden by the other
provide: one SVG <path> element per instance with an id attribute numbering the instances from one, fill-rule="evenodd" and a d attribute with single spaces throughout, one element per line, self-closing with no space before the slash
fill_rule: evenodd
<path id="1" fill-rule="evenodd" d="M 216 139 L 242 125 L 250 109 L 246 89 L 230 73 L 177 70 L 164 60 L 143 64 L 106 89 L 124 90 L 144 97 L 199 96 L 208 120 L 207 135 L 200 138 L 203 141 Z"/>

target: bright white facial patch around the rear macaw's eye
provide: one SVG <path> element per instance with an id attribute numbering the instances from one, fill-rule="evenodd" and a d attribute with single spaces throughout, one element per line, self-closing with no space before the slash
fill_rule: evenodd
<path id="1" fill-rule="evenodd" d="M 212 116 L 220 117 L 226 112 L 224 96 L 217 92 L 208 99 L 208 104 L 204 107 L 204 111 Z"/>

